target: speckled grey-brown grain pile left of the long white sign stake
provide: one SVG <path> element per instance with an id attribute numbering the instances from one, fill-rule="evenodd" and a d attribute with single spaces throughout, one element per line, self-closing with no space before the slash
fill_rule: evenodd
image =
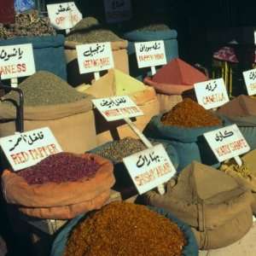
<path id="1" fill-rule="evenodd" d="M 139 139 L 125 137 L 119 141 L 109 143 L 108 146 L 100 149 L 96 154 L 112 160 L 114 163 L 119 163 L 124 157 L 130 154 L 135 154 L 144 149 L 146 149 L 146 147 Z"/>

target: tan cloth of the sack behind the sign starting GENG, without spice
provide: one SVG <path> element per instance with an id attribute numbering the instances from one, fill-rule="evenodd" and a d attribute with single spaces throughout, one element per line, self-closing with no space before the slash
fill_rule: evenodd
<path id="1" fill-rule="evenodd" d="M 76 45 L 81 43 L 66 41 L 65 42 L 65 55 L 67 61 L 67 81 L 68 84 L 76 87 L 79 84 L 90 84 L 94 79 L 93 73 L 79 73 L 79 63 L 78 63 L 78 55 L 76 51 Z M 129 64 L 128 64 L 128 55 L 127 55 L 127 45 L 128 42 L 117 41 L 111 42 L 111 47 L 113 51 L 113 63 L 114 68 L 119 69 L 124 73 L 129 73 Z M 107 73 L 103 72 L 103 73 Z"/>

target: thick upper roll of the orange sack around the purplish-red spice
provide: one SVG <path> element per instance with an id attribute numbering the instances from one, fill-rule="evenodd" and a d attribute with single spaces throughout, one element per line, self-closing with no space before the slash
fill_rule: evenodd
<path id="1" fill-rule="evenodd" d="M 88 159 L 91 154 L 79 154 L 79 156 Z M 42 211 L 42 214 L 44 212 L 48 214 L 49 211 L 53 212 L 54 208 L 56 208 L 57 214 L 61 214 L 59 207 L 64 207 L 63 213 L 67 212 L 71 216 L 72 209 L 77 211 L 78 207 L 69 207 L 68 210 L 65 207 L 76 204 L 82 204 L 80 207 L 84 207 L 85 212 L 90 206 L 90 201 L 97 199 L 97 196 L 109 190 L 115 181 L 112 163 L 96 154 L 93 156 L 96 162 L 100 164 L 96 175 L 90 179 L 87 177 L 79 179 L 76 182 L 29 185 L 23 177 L 15 172 L 4 170 L 2 175 L 3 195 L 8 203 L 22 208 L 53 207 L 51 210 Z M 96 207 L 99 206 L 96 204 Z"/>

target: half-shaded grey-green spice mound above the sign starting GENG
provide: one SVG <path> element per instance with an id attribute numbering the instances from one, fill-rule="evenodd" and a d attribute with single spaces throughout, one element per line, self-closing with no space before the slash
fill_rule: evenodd
<path id="1" fill-rule="evenodd" d="M 87 17 L 80 20 L 67 36 L 67 41 L 82 44 L 122 41 L 115 33 L 100 26 L 95 18 Z"/>

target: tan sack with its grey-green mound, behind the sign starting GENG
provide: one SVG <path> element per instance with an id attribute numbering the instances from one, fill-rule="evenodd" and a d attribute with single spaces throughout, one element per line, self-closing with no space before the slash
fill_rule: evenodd
<path id="1" fill-rule="evenodd" d="M 92 44 L 110 42 L 113 50 L 114 67 L 124 73 L 129 73 L 127 41 L 119 38 L 107 27 L 102 26 L 93 17 L 80 20 L 67 35 L 65 41 L 65 54 L 67 59 L 67 81 L 74 87 L 80 84 L 90 84 L 94 79 L 93 73 L 79 73 L 78 55 L 76 46 L 79 44 Z M 101 72 L 106 73 L 106 72 Z"/>

